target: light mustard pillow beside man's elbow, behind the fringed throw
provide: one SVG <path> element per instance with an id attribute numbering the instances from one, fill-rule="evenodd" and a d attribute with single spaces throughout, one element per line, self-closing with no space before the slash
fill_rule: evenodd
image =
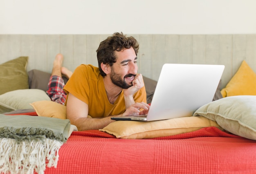
<path id="1" fill-rule="evenodd" d="M 58 104 L 54 101 L 35 101 L 30 104 L 36 114 L 41 117 L 54 117 L 58 119 L 66 119 L 66 106 Z"/>

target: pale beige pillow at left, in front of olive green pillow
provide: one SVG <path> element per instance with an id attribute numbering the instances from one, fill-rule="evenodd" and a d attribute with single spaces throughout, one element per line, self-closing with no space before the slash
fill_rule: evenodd
<path id="1" fill-rule="evenodd" d="M 29 104 L 39 100 L 51 100 L 40 89 L 19 89 L 0 95 L 0 113 L 18 109 L 33 109 Z"/>

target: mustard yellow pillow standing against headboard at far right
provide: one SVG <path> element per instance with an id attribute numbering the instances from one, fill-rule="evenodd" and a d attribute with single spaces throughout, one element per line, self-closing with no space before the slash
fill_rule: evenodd
<path id="1" fill-rule="evenodd" d="M 256 95 L 256 74 L 245 62 L 242 62 L 236 74 L 220 93 L 223 97 L 235 95 Z"/>

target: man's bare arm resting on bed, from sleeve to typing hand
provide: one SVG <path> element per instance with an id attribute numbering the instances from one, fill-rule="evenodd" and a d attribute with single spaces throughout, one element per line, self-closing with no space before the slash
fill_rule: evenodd
<path id="1" fill-rule="evenodd" d="M 67 119 L 70 119 L 71 124 L 75 125 L 79 131 L 82 130 L 98 130 L 106 127 L 109 123 L 113 122 L 110 117 L 104 118 L 88 118 L 88 104 L 74 97 L 69 93 L 67 97 Z M 115 117 L 138 115 L 140 108 L 145 111 L 148 110 L 149 105 L 143 102 L 132 104 L 123 114 Z"/>

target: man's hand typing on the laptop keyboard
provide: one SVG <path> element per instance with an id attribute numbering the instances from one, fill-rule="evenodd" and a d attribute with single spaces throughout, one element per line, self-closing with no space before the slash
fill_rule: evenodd
<path id="1" fill-rule="evenodd" d="M 132 104 L 121 116 L 148 114 L 150 106 L 144 102 Z M 140 111 L 140 109 L 143 109 Z"/>

